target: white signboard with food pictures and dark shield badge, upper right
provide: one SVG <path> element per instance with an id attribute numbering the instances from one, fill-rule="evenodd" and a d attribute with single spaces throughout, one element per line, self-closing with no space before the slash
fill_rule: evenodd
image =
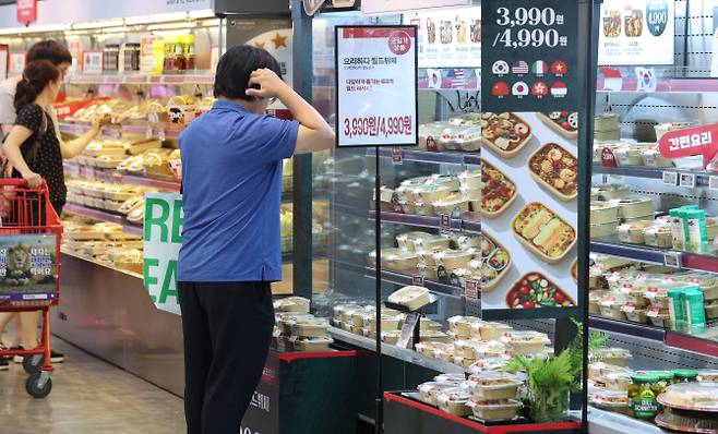
<path id="1" fill-rule="evenodd" d="M 673 0 L 605 0 L 598 19 L 599 65 L 673 64 Z"/>

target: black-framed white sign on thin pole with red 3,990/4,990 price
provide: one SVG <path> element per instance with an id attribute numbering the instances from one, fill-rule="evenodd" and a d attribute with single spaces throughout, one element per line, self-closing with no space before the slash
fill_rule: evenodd
<path id="1" fill-rule="evenodd" d="M 416 146 L 417 27 L 335 32 L 337 146 Z"/>

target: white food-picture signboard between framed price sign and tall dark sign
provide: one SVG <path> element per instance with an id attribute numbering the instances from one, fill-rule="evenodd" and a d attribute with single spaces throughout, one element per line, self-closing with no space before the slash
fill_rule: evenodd
<path id="1" fill-rule="evenodd" d="M 419 28 L 419 68 L 481 68 L 481 8 L 404 14 Z"/>

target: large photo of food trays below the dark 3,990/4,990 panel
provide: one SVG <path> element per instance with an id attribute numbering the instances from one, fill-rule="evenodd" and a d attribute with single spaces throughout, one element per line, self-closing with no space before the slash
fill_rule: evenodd
<path id="1" fill-rule="evenodd" d="M 576 305 L 577 117 L 482 114 L 484 310 Z M 516 146 L 502 149 L 503 140 Z"/>

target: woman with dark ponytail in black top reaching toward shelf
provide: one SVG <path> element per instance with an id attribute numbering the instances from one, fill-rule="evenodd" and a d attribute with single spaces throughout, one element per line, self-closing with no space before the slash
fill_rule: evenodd
<path id="1" fill-rule="evenodd" d="M 60 215 L 65 203 L 67 188 L 62 171 L 62 159 L 80 154 L 99 132 L 99 120 L 93 120 L 91 130 L 71 142 L 61 142 L 46 108 L 51 107 L 62 85 L 62 73 L 47 60 L 27 64 L 15 91 L 14 107 L 17 113 L 14 126 L 4 140 L 2 150 L 14 168 L 13 177 L 23 178 L 29 188 L 36 189 L 43 180 L 47 182 L 50 202 Z M 23 348 L 37 347 L 37 312 L 34 321 L 22 323 Z M 3 330 L 10 315 L 0 316 Z"/>

